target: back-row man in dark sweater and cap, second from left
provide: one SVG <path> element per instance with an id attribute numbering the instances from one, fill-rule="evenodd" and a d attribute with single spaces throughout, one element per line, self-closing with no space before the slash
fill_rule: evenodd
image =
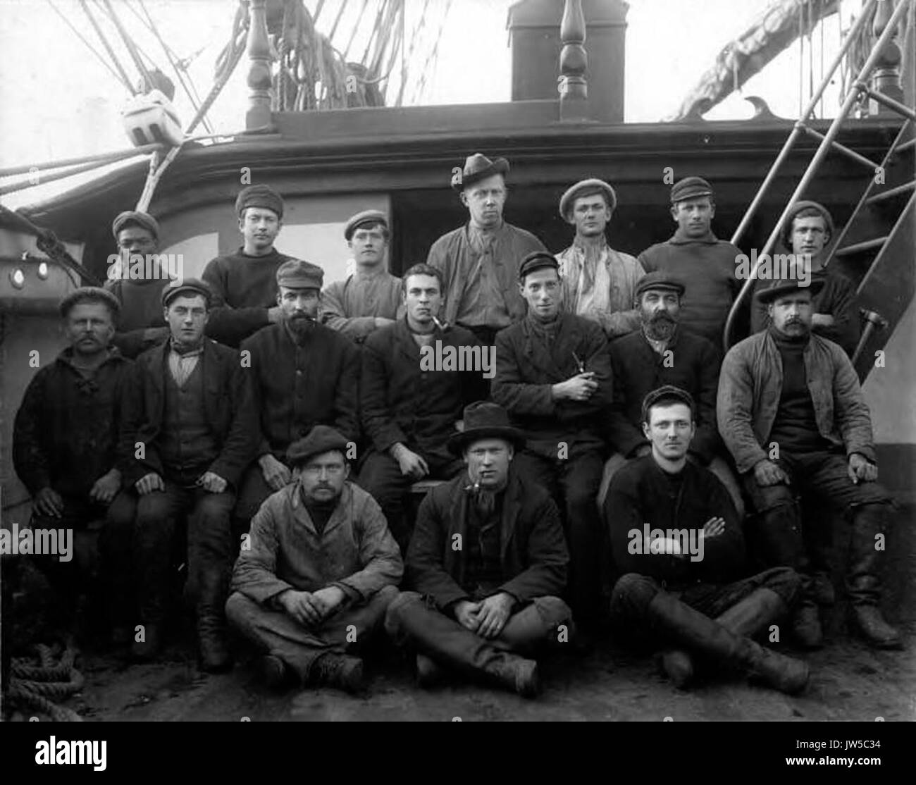
<path id="1" fill-rule="evenodd" d="M 283 227 L 283 200 L 268 185 L 249 185 L 235 199 L 243 244 L 234 254 L 216 256 L 203 270 L 213 291 L 207 335 L 237 347 L 249 335 L 280 321 L 277 270 L 292 256 L 274 247 Z"/>

